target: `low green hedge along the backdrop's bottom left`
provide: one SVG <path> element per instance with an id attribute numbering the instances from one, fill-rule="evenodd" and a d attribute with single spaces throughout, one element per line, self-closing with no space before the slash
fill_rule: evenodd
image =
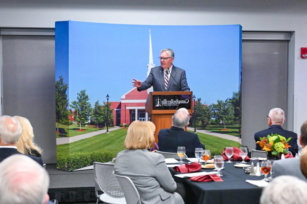
<path id="1" fill-rule="evenodd" d="M 71 153 L 68 157 L 64 157 L 59 153 L 56 154 L 57 168 L 73 171 L 79 168 L 84 168 L 93 165 L 97 162 L 109 162 L 112 161 L 112 153 L 110 151 L 96 150 L 91 153 Z"/>

